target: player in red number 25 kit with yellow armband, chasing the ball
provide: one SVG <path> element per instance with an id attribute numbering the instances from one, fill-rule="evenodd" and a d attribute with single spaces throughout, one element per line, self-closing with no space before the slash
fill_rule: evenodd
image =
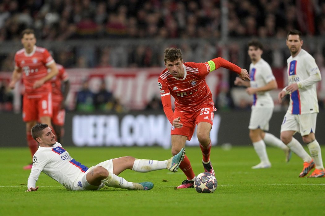
<path id="1" fill-rule="evenodd" d="M 210 161 L 210 131 L 216 108 L 209 86 L 205 82 L 205 76 L 219 67 L 224 67 L 239 74 L 241 79 L 250 80 L 247 70 L 220 57 L 205 63 L 184 63 L 181 50 L 175 48 L 167 48 L 164 51 L 164 62 L 166 69 L 158 78 L 158 86 L 163 110 L 173 125 L 172 154 L 177 154 L 185 146 L 186 140 L 191 139 L 197 124 L 197 137 L 203 155 L 204 171 L 214 175 Z M 170 95 L 175 98 L 174 112 Z M 187 179 L 177 188 L 192 188 L 195 174 L 186 155 L 179 167 Z"/>

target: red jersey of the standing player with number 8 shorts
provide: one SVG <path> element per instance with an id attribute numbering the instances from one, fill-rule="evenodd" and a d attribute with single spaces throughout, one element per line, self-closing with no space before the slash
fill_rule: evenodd
<path id="1" fill-rule="evenodd" d="M 47 65 L 54 60 L 50 53 L 42 47 L 34 46 L 31 53 L 26 53 L 25 49 L 16 52 L 15 68 L 22 70 L 22 79 L 25 85 L 25 94 L 39 95 L 52 91 L 50 82 L 45 82 L 41 87 L 33 89 L 34 82 L 46 76 Z"/>

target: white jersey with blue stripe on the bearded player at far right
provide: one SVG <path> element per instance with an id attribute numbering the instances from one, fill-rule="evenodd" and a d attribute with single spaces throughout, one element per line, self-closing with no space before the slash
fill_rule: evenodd
<path id="1" fill-rule="evenodd" d="M 303 49 L 297 56 L 293 58 L 290 56 L 287 63 L 289 85 L 303 81 L 313 74 L 320 74 L 315 59 Z M 292 92 L 287 112 L 291 114 L 318 113 L 316 84 Z"/>

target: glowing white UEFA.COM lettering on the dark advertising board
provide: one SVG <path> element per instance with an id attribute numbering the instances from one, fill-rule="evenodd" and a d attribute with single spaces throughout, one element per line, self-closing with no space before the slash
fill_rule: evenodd
<path id="1" fill-rule="evenodd" d="M 220 116 L 215 115 L 210 132 L 216 145 Z M 76 146 L 152 146 L 170 148 L 172 125 L 165 115 L 75 115 L 72 119 L 72 141 Z M 187 146 L 198 146 L 194 133 Z"/>

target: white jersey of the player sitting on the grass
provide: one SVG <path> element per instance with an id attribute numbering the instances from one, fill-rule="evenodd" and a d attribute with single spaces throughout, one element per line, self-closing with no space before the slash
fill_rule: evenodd
<path id="1" fill-rule="evenodd" d="M 72 190 L 73 183 L 88 167 L 75 161 L 59 142 L 53 147 L 39 147 L 33 156 L 32 171 L 38 169 Z"/>

